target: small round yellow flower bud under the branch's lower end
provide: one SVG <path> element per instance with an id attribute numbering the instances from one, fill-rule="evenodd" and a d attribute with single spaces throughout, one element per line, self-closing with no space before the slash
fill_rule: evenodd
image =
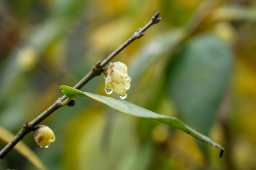
<path id="1" fill-rule="evenodd" d="M 40 147 L 49 147 L 51 142 L 55 141 L 55 135 L 50 127 L 39 125 L 34 130 L 34 138 Z"/>

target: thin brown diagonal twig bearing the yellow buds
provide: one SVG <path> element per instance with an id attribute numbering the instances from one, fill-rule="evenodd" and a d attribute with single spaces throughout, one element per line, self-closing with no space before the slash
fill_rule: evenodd
<path id="1" fill-rule="evenodd" d="M 81 89 L 92 78 L 94 78 L 95 76 L 100 76 L 102 68 L 104 68 L 110 62 L 111 59 L 118 55 L 119 52 L 125 49 L 131 42 L 142 37 L 145 34 L 144 32 L 150 26 L 158 23 L 159 21 L 161 21 L 161 18 L 159 18 L 159 12 L 157 12 L 143 28 L 139 28 L 126 42 L 124 42 L 119 48 L 113 51 L 106 59 L 104 59 L 102 62 L 99 61 L 95 66 L 93 66 L 91 68 L 91 71 L 80 82 L 74 85 L 73 88 Z M 7 153 L 9 153 L 14 148 L 14 146 L 24 136 L 31 132 L 39 123 L 41 123 L 48 116 L 50 116 L 55 110 L 64 106 L 66 104 L 66 102 L 63 102 L 65 99 L 66 96 L 63 95 L 62 97 L 58 98 L 48 109 L 46 109 L 39 116 L 37 116 L 37 118 L 33 119 L 30 123 L 25 123 L 22 129 L 18 132 L 18 134 L 0 151 L 0 161 L 5 157 Z"/>

